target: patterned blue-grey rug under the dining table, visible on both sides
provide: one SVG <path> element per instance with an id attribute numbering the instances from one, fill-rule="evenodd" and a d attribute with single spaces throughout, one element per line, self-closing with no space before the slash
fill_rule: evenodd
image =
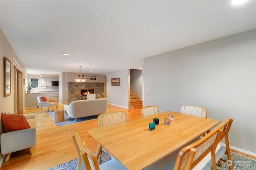
<path id="1" fill-rule="evenodd" d="M 107 158 L 107 160 L 111 159 L 104 151 L 102 151 L 102 154 L 104 155 L 105 158 Z M 232 158 L 233 170 L 256 170 L 256 160 L 247 158 L 240 154 L 235 154 L 233 152 L 231 152 L 231 158 Z M 224 154 L 222 156 L 222 159 L 228 160 L 227 155 Z M 104 162 L 105 161 L 101 159 L 101 163 L 104 163 Z M 222 167 L 217 165 L 216 169 L 229 170 L 228 165 L 223 161 L 221 162 L 222 162 Z M 68 162 L 65 162 L 64 164 L 60 164 L 58 166 L 50 168 L 48 170 L 76 170 L 76 168 L 77 168 L 77 158 L 70 160 Z M 82 164 L 82 170 L 85 170 L 84 164 Z"/>

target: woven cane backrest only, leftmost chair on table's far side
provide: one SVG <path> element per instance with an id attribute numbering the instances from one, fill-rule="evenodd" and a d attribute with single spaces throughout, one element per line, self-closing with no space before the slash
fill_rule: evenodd
<path id="1" fill-rule="evenodd" d="M 112 125 L 126 121 L 126 114 L 124 111 L 114 111 L 98 115 L 98 127 Z"/>

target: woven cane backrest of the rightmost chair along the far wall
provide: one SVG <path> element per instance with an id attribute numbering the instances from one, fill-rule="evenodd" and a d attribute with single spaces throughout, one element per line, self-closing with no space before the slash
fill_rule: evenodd
<path id="1" fill-rule="evenodd" d="M 198 107 L 198 106 L 182 105 L 180 107 L 180 113 L 185 113 L 188 115 L 194 115 L 199 117 L 207 117 L 207 109 L 204 107 Z"/>

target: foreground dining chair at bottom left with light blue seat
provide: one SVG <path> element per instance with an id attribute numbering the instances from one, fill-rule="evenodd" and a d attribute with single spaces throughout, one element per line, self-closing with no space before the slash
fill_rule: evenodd
<path id="1" fill-rule="evenodd" d="M 78 132 L 72 136 L 72 139 L 78 155 L 77 170 L 81 170 L 82 161 L 84 162 L 86 170 L 127 170 L 127 168 L 125 168 L 115 158 L 99 165 L 95 154 L 84 145 Z"/>

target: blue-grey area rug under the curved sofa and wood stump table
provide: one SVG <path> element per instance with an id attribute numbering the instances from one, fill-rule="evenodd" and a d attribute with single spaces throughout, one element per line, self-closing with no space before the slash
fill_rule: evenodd
<path id="1" fill-rule="evenodd" d="M 54 122 L 54 111 L 52 111 L 52 112 L 48 111 L 48 113 L 49 113 L 50 117 L 52 118 L 52 121 Z M 54 123 L 55 123 L 56 126 L 64 126 L 64 125 L 70 125 L 70 124 L 73 124 L 73 123 L 80 123 L 80 122 L 83 122 L 83 121 L 97 119 L 97 118 L 98 118 L 98 115 L 80 117 L 80 118 L 76 118 L 76 122 L 74 122 L 75 121 L 74 118 L 69 118 L 69 116 L 64 113 L 65 121 L 54 122 Z"/>

